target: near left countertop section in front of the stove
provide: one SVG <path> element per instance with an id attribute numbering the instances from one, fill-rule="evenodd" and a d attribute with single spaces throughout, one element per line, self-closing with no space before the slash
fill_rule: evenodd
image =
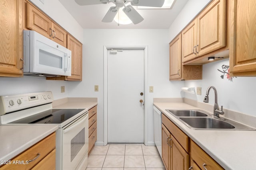
<path id="1" fill-rule="evenodd" d="M 57 129 L 57 125 L 0 125 L 0 163 L 11 160 Z"/>

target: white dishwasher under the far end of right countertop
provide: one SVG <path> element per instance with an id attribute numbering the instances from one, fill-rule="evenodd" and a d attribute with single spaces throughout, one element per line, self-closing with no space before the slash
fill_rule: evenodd
<path id="1" fill-rule="evenodd" d="M 158 108 L 153 106 L 154 109 L 154 142 L 156 148 L 162 157 L 162 113 Z"/>

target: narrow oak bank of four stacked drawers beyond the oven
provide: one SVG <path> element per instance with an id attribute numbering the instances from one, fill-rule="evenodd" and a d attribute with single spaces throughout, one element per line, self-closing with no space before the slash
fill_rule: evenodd
<path id="1" fill-rule="evenodd" d="M 89 146 L 88 146 L 88 154 L 92 151 L 94 144 L 97 140 L 97 106 L 92 107 L 88 111 L 89 115 Z"/>

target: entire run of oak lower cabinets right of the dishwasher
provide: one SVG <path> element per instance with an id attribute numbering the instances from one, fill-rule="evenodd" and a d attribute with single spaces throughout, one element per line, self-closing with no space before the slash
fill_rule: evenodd
<path id="1" fill-rule="evenodd" d="M 162 161 L 166 170 L 224 170 L 164 114 Z"/>

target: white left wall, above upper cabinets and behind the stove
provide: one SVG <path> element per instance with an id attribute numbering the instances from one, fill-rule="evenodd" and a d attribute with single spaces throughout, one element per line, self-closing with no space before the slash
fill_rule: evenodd
<path id="1" fill-rule="evenodd" d="M 36 6 L 41 8 L 53 20 L 62 25 L 79 41 L 83 42 L 84 31 L 77 21 L 68 13 L 66 8 L 58 0 L 44 0 L 44 4 L 39 0 L 31 0 Z M 58 8 L 56 8 L 58 7 Z M 20 93 L 52 91 L 54 100 L 68 97 L 67 84 L 65 81 L 45 80 L 44 77 L 24 76 L 22 78 L 0 77 L 0 96 Z M 66 92 L 60 93 L 60 86 L 66 86 Z"/>

